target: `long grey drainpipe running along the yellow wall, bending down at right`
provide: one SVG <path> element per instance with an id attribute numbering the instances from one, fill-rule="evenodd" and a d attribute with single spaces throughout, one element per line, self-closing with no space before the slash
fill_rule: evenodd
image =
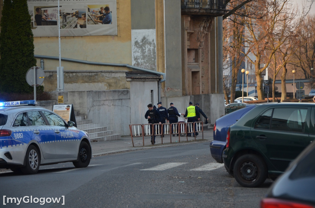
<path id="1" fill-rule="evenodd" d="M 56 57 L 56 56 L 34 55 L 34 57 L 35 57 L 35 58 L 41 58 L 41 64 L 42 64 L 43 58 L 59 60 L 59 57 Z M 163 76 L 163 79 L 161 79 L 161 80 L 157 83 L 158 101 L 161 100 L 161 83 L 166 81 L 166 80 L 165 80 L 165 73 L 157 72 L 157 71 L 152 71 L 152 70 L 146 69 L 146 68 L 140 68 L 140 67 L 132 66 L 132 65 L 129 65 L 129 64 L 126 64 L 126 63 L 101 63 L 101 62 L 82 61 L 82 60 L 72 59 L 72 58 L 62 58 L 62 57 L 61 57 L 61 60 L 62 60 L 62 61 L 69 61 L 69 62 L 75 62 L 75 63 L 91 64 L 91 65 L 127 67 L 127 68 L 132 68 L 132 69 L 138 69 L 138 70 L 140 70 L 140 71 L 149 72 L 149 73 L 151 73 L 151 74 L 162 75 L 162 76 Z M 44 69 L 43 66 L 42 66 L 42 69 Z"/>

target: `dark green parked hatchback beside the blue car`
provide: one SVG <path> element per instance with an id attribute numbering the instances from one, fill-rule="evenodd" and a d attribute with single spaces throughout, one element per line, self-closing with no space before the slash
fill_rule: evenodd
<path id="1" fill-rule="evenodd" d="M 274 180 L 315 139 L 314 117 L 314 103 L 255 107 L 227 132 L 226 170 L 244 187 Z"/>

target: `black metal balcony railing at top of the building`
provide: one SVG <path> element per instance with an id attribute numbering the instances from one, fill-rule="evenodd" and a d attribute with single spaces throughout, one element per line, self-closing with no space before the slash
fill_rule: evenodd
<path id="1" fill-rule="evenodd" d="M 181 0 L 181 8 L 225 9 L 225 0 Z"/>

